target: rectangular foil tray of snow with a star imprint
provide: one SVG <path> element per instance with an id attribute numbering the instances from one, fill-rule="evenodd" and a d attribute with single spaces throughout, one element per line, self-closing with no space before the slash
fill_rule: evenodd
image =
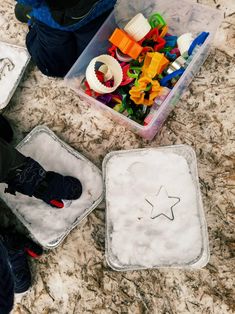
<path id="1" fill-rule="evenodd" d="M 113 269 L 207 264 L 207 225 L 191 147 L 111 152 L 103 176 L 106 259 Z"/>

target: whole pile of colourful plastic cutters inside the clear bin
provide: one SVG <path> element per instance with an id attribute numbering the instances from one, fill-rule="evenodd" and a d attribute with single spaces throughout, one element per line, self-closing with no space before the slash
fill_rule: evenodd
<path id="1" fill-rule="evenodd" d="M 168 33 L 159 13 L 149 20 L 137 14 L 124 30 L 114 30 L 109 55 L 91 61 L 84 90 L 131 120 L 149 125 L 208 35 L 202 32 L 193 40 L 186 33 L 178 38 Z"/>

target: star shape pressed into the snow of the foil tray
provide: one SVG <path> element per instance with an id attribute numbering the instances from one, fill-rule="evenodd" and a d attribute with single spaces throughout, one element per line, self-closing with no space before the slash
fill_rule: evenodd
<path id="1" fill-rule="evenodd" d="M 180 198 L 169 196 L 164 186 L 161 186 L 155 196 L 150 196 L 145 199 L 152 206 L 151 219 L 159 216 L 164 216 L 169 220 L 174 220 L 173 207 L 180 202 Z"/>

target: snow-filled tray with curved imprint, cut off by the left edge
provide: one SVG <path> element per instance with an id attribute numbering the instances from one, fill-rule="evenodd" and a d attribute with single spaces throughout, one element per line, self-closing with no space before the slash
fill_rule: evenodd
<path id="1" fill-rule="evenodd" d="M 0 109 L 10 101 L 29 60 L 27 49 L 0 41 Z"/>

